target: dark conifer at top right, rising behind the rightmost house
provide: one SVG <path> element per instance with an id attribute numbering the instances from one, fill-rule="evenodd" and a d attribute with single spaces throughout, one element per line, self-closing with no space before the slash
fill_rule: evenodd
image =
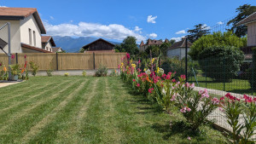
<path id="1" fill-rule="evenodd" d="M 230 31 L 235 33 L 237 37 L 243 37 L 247 34 L 247 26 L 236 26 L 236 23 L 245 19 L 248 15 L 256 12 L 256 6 L 250 4 L 241 5 L 236 9 L 236 17 L 227 23 L 227 26 L 232 25 Z"/>

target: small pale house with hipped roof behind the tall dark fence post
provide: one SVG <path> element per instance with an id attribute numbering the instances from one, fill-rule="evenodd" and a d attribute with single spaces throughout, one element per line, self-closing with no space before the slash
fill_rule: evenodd
<path id="1" fill-rule="evenodd" d="M 192 43 L 188 41 L 188 52 Z M 182 38 L 181 41 L 173 43 L 172 46 L 167 49 L 168 57 L 177 57 L 179 60 L 182 60 L 186 55 L 186 38 Z"/>

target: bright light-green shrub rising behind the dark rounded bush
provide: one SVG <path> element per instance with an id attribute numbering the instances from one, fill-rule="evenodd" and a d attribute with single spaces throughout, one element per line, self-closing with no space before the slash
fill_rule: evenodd
<path id="1" fill-rule="evenodd" d="M 193 60 L 198 60 L 201 51 L 214 45 L 242 48 L 247 46 L 247 37 L 237 37 L 232 32 L 214 32 L 196 40 L 189 50 L 189 55 Z"/>

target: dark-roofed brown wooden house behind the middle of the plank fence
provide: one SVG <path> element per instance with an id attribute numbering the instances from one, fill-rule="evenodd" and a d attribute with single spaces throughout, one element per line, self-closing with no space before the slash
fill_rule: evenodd
<path id="1" fill-rule="evenodd" d="M 100 38 L 96 41 L 84 45 L 84 53 L 114 53 L 114 44 Z"/>

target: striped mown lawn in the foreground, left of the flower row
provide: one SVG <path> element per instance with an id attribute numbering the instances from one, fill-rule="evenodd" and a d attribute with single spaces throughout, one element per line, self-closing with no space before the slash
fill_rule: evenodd
<path id="1" fill-rule="evenodd" d="M 208 126 L 195 135 L 177 109 L 166 114 L 119 78 L 36 77 L 0 93 L 0 143 L 224 143 Z"/>

